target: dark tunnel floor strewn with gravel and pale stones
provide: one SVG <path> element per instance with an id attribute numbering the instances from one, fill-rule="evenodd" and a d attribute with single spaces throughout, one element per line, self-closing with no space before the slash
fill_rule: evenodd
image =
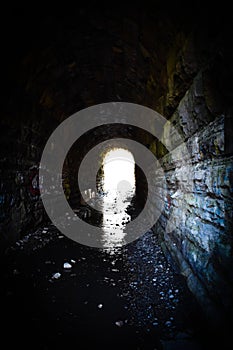
<path id="1" fill-rule="evenodd" d="M 111 252 L 50 224 L 12 246 L 1 269 L 8 348 L 207 349 L 200 307 L 152 231 Z"/>

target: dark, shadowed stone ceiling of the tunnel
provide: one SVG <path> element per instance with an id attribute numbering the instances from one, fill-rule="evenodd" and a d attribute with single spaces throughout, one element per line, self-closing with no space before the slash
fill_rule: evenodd
<path id="1" fill-rule="evenodd" d="M 134 6 L 90 4 L 73 11 L 19 6 L 6 15 L 14 22 L 13 27 L 7 24 L 3 38 L 7 114 L 13 109 L 21 118 L 40 113 L 61 121 L 87 106 L 124 101 L 169 118 L 210 57 L 209 69 L 216 72 L 211 79 L 224 94 L 218 71 L 229 31 L 227 21 L 226 28 L 219 25 L 221 11 L 206 17 L 198 6 L 182 9 L 138 1 Z M 224 83 L 230 81 L 231 58 Z M 225 98 L 231 98 L 230 91 Z"/>

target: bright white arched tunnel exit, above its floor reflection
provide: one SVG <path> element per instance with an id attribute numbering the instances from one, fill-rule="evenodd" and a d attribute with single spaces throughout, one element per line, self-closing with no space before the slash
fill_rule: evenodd
<path id="1" fill-rule="evenodd" d="M 135 162 L 131 152 L 117 148 L 109 151 L 103 160 L 104 184 L 108 191 L 135 190 Z"/>

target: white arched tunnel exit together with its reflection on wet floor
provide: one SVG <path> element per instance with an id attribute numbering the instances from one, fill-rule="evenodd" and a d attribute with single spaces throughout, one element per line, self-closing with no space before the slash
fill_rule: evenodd
<path id="1" fill-rule="evenodd" d="M 103 242 L 110 250 L 124 244 L 126 224 L 131 220 L 126 209 L 135 194 L 133 155 L 116 149 L 107 153 L 103 163 Z"/>

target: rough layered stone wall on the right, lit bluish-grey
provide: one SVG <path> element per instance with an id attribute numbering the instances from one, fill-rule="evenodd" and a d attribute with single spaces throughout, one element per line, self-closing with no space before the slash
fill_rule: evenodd
<path id="1" fill-rule="evenodd" d="M 173 151 L 160 159 L 167 181 L 155 230 L 210 321 L 222 322 L 232 318 L 233 157 L 224 147 L 226 115 L 210 108 L 205 76 L 197 74 L 164 130 Z"/>

